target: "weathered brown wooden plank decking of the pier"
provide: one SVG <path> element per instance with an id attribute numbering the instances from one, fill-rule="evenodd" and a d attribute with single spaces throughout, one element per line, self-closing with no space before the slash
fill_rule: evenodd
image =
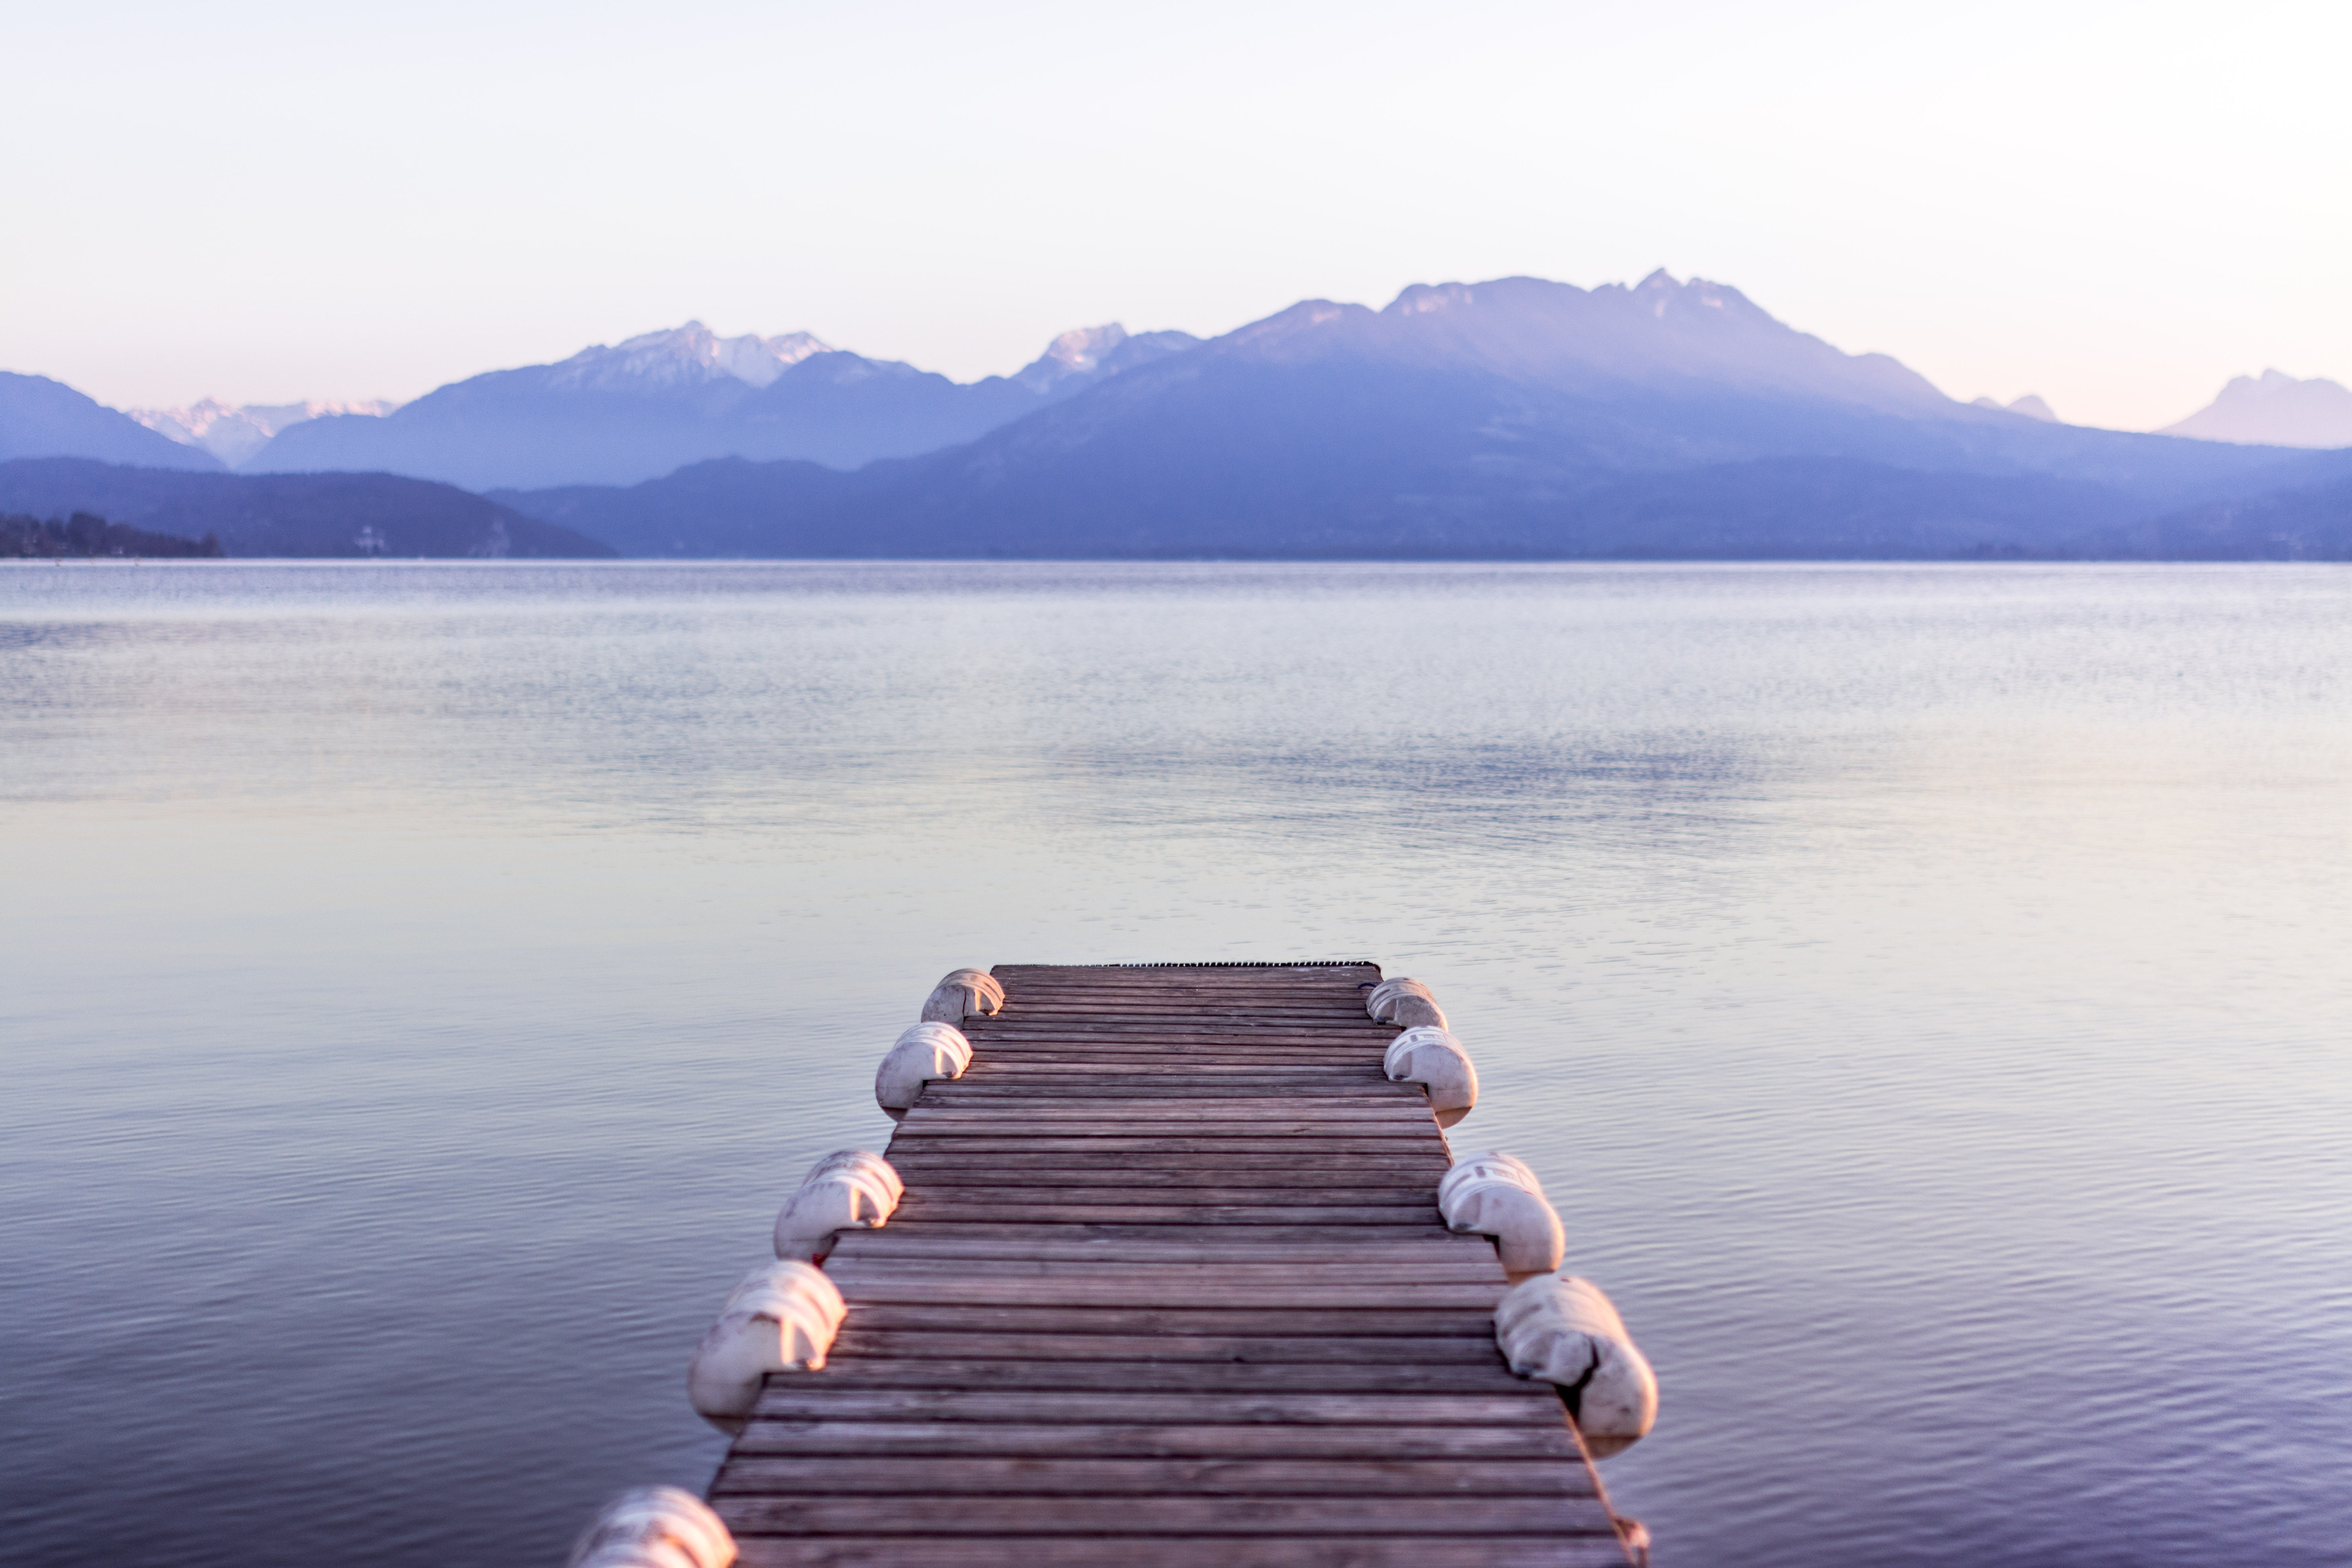
<path id="1" fill-rule="evenodd" d="M 710 1486 L 743 1568 L 1571 1568 L 1625 1547 L 1371 964 L 1002 966 Z"/>

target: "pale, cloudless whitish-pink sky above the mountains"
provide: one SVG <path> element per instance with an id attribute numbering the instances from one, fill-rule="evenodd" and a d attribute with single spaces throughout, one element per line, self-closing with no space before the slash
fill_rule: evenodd
<path id="1" fill-rule="evenodd" d="M 1957 397 L 2352 381 L 2352 5 L 0 0 L 0 367 L 414 397 L 701 317 L 957 378 L 1656 266 Z"/>

